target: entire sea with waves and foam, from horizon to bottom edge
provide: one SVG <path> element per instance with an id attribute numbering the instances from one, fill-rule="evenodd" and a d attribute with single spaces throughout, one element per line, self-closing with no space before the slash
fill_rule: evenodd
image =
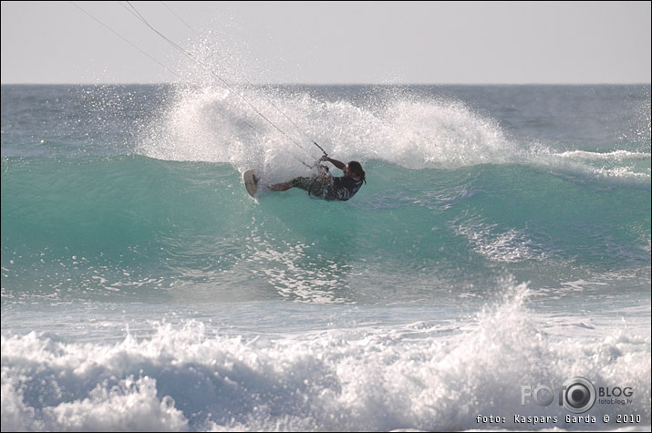
<path id="1" fill-rule="evenodd" d="M 3 85 L 2 429 L 649 430 L 650 174 L 649 85 Z"/>

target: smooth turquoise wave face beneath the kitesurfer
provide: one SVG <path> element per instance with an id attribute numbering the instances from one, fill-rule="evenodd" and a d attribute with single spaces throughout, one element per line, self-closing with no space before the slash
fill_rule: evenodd
<path id="1" fill-rule="evenodd" d="M 253 201 L 224 163 L 5 160 L 5 294 L 138 301 L 173 285 L 221 295 L 237 278 L 240 299 L 274 299 L 277 284 L 297 280 L 315 296 L 346 294 L 342 302 L 429 302 L 441 285 L 491 291 L 503 274 L 550 285 L 560 275 L 634 278 L 649 264 L 650 198 L 639 180 L 522 164 L 366 166 L 365 193 L 330 203 L 298 190 Z M 279 266 L 280 280 L 261 272 Z M 380 289 L 394 280 L 400 290 Z M 84 293 L 61 291 L 67 281 Z M 131 288 L 105 290 L 115 284 Z"/>

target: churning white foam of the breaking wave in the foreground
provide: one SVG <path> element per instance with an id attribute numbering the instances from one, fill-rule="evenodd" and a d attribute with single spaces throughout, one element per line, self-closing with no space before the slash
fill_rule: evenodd
<path id="1" fill-rule="evenodd" d="M 649 335 L 585 327 L 569 341 L 562 323 L 527 307 L 525 285 L 503 284 L 463 325 L 244 337 L 184 320 L 113 345 L 3 335 L 3 429 L 482 429 L 496 426 L 476 417 L 492 414 L 507 415 L 500 428 L 519 428 L 512 415 L 573 428 L 564 407 L 522 405 L 521 390 L 578 375 L 635 390 L 631 404 L 596 404 L 590 415 L 641 415 L 649 425 Z"/>

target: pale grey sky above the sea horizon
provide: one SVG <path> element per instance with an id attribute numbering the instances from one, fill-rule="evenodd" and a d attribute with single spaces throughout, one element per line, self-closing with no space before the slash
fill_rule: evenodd
<path id="1" fill-rule="evenodd" d="M 73 3 L 166 67 L 192 63 L 126 2 L 2 2 L 3 84 L 178 79 Z M 650 2 L 130 3 L 174 42 L 254 82 L 650 82 Z"/>

